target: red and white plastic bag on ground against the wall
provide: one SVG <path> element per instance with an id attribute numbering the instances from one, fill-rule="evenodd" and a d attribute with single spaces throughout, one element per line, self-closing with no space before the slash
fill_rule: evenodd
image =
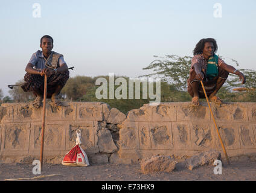
<path id="1" fill-rule="evenodd" d="M 81 141 L 81 131 L 79 133 L 77 132 L 77 139 L 76 139 L 76 145 L 72 148 L 68 153 L 66 153 L 65 157 L 62 160 L 62 165 L 67 166 L 89 166 L 89 160 L 88 157 L 83 151 L 82 147 L 80 145 L 82 144 Z"/>

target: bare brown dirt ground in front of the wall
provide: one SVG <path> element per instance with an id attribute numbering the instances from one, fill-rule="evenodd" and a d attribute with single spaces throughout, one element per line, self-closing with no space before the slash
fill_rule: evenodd
<path id="1" fill-rule="evenodd" d="M 1 163 L 0 180 L 31 178 L 34 165 L 21 163 Z M 140 165 L 97 164 L 86 167 L 44 164 L 41 175 L 58 174 L 57 176 L 32 179 L 39 181 L 225 181 L 256 180 L 256 161 L 250 159 L 231 160 L 231 165 L 223 161 L 222 175 L 214 174 L 214 165 L 200 166 L 193 171 L 181 165 L 171 173 L 142 174 Z"/>

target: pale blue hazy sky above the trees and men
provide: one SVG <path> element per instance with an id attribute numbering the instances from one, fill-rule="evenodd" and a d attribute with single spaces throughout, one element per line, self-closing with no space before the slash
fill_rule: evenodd
<path id="1" fill-rule="evenodd" d="M 33 17 L 35 3 L 40 17 Z M 216 3 L 222 5 L 222 17 L 214 17 Z M 142 68 L 153 55 L 193 56 L 196 43 L 207 37 L 217 40 L 217 54 L 256 70 L 255 21 L 255 0 L 1 0 L 0 88 L 8 95 L 7 85 L 24 78 L 45 34 L 54 39 L 53 51 L 75 66 L 71 77 L 137 77 L 149 73 Z"/>

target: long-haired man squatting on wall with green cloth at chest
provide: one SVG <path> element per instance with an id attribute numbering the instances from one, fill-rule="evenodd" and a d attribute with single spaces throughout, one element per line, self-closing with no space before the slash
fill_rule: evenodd
<path id="1" fill-rule="evenodd" d="M 210 101 L 217 104 L 221 104 L 222 100 L 216 96 L 216 93 L 225 83 L 229 73 L 238 75 L 240 80 L 242 80 L 242 84 L 246 83 L 245 75 L 243 75 L 242 72 L 237 71 L 233 66 L 227 65 L 222 59 L 215 55 L 217 49 L 216 40 L 212 38 L 200 40 L 196 48 L 194 48 L 194 57 L 191 60 L 190 77 L 187 83 L 188 93 L 193 97 L 192 104 L 195 106 L 199 106 L 199 98 L 205 98 L 200 80 L 203 81 L 206 94 Z M 216 59 L 216 62 L 209 62 L 210 59 Z M 210 68 L 212 64 L 213 66 Z M 214 68 L 216 68 L 215 74 L 213 74 Z"/>

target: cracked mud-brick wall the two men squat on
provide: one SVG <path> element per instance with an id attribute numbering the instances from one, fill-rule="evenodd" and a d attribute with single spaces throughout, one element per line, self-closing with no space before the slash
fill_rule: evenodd
<path id="1" fill-rule="evenodd" d="M 228 156 L 256 153 L 256 103 L 211 104 Z M 25 103 L 0 107 L 0 163 L 40 158 L 43 108 Z M 219 138 L 206 103 L 145 104 L 127 115 L 106 103 L 46 105 L 47 163 L 61 163 L 82 131 L 82 148 L 91 163 L 138 163 L 153 155 L 193 156 L 220 150 Z M 225 157 L 225 156 L 223 156 Z"/>

